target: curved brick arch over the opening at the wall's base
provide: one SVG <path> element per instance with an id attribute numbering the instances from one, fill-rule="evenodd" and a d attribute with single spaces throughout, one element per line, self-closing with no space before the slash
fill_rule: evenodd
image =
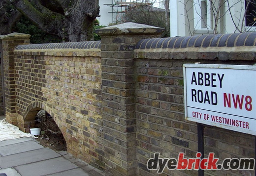
<path id="1" fill-rule="evenodd" d="M 64 139 L 66 140 L 66 136 L 64 135 L 65 131 L 63 129 L 63 124 L 57 117 L 57 115 L 53 112 L 53 110 L 47 106 L 45 103 L 41 101 L 33 101 L 29 104 L 29 106 L 26 108 L 25 112 L 23 113 L 23 121 L 24 121 L 24 127 L 28 128 L 29 126 L 34 126 L 34 117 L 36 114 L 41 110 L 44 109 L 48 114 L 50 114 L 57 126 L 60 128 L 61 132 L 63 133 Z"/>

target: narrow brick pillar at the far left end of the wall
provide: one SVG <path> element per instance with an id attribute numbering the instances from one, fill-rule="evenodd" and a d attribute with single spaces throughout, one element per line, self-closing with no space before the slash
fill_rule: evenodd
<path id="1" fill-rule="evenodd" d="M 14 49 L 18 45 L 29 44 L 29 38 L 30 35 L 21 33 L 11 33 L 0 37 L 3 52 L 5 118 L 13 125 L 17 125 Z"/>

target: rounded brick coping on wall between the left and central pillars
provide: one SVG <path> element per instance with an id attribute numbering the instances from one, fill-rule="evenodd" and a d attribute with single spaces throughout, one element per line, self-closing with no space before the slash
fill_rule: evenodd
<path id="1" fill-rule="evenodd" d="M 19 45 L 15 50 L 100 49 L 100 41 Z"/>

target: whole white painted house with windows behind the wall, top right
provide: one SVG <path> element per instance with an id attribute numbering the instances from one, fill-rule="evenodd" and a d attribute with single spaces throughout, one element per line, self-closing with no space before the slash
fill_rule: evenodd
<path id="1" fill-rule="evenodd" d="M 171 37 L 256 31 L 256 0 L 170 0 L 170 30 Z"/>

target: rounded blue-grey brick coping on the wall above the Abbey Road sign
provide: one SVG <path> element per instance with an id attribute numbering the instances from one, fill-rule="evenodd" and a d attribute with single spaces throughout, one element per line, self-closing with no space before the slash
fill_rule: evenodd
<path id="1" fill-rule="evenodd" d="M 136 49 L 182 49 L 189 47 L 207 48 L 241 46 L 256 46 L 256 32 L 143 39 L 137 43 Z"/>

